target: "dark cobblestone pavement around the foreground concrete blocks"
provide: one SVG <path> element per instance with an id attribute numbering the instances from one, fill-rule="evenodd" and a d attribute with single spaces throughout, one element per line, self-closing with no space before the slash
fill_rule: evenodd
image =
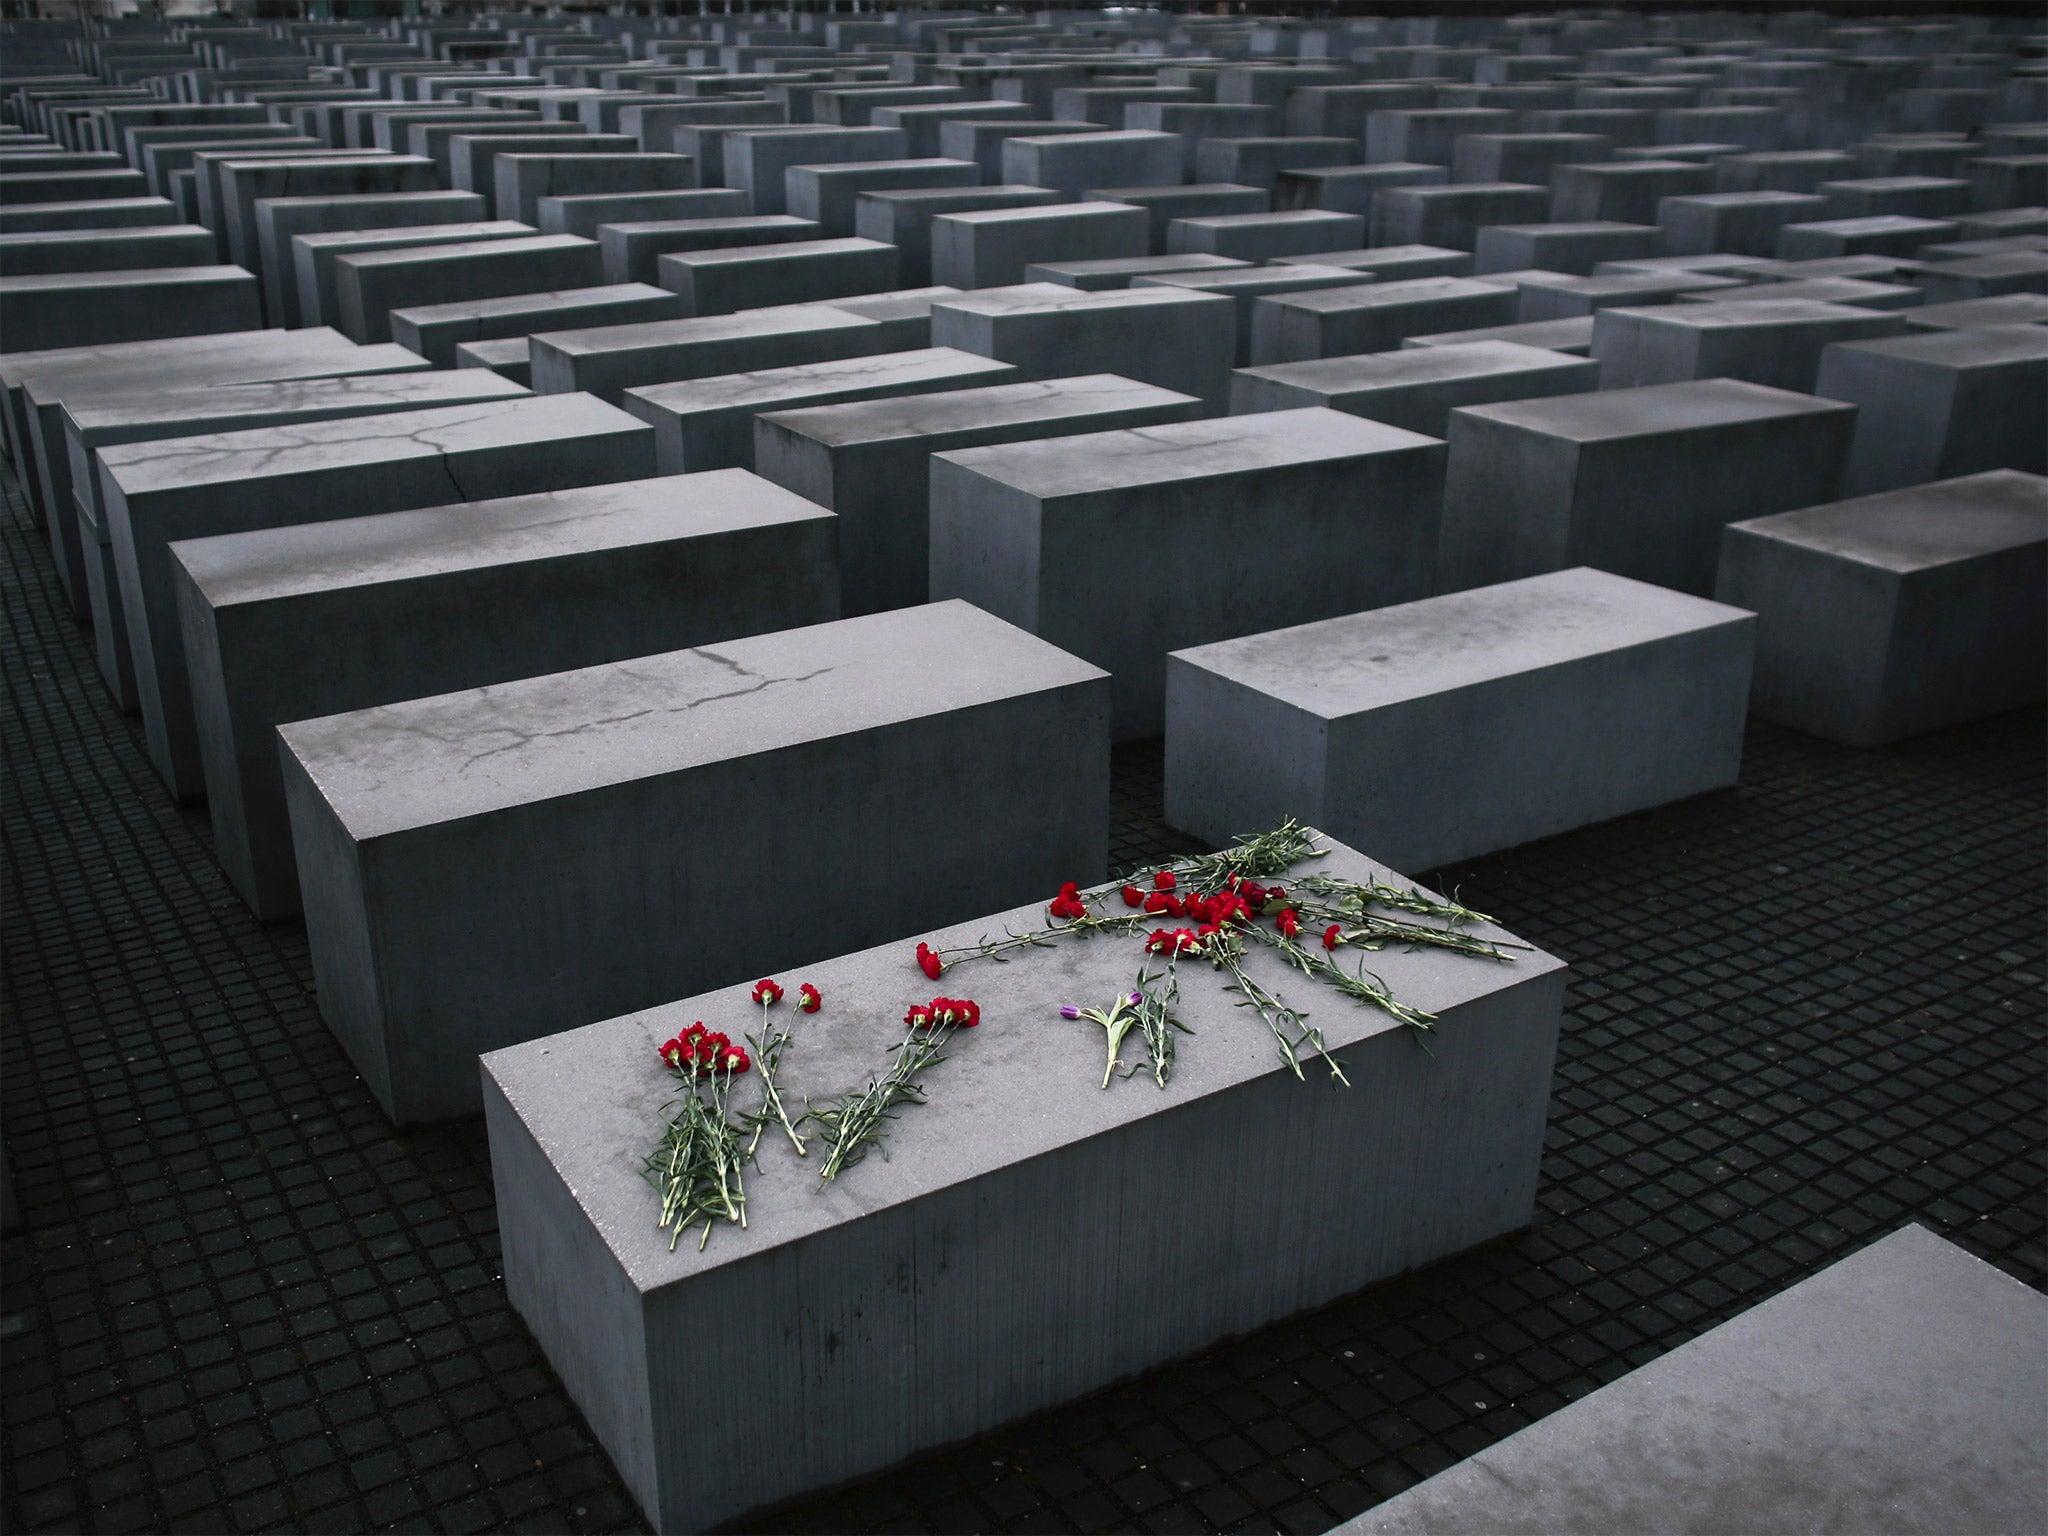
<path id="1" fill-rule="evenodd" d="M 0 1522 L 639 1530 L 506 1305 L 481 1122 L 385 1124 L 12 477 L 0 535 Z M 1903 1223 L 2042 1286 L 2042 735 L 1753 725 L 1739 791 L 1444 872 L 1573 965 L 1534 1227 L 756 1528 L 1317 1532 Z M 1190 846 L 1157 817 L 1120 752 L 1120 862 Z"/>

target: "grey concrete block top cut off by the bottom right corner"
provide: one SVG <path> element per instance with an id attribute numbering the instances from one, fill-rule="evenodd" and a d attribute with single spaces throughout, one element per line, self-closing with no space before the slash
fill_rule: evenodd
<path id="1" fill-rule="evenodd" d="M 1907 1227 L 1329 1536 L 2048 1530 L 2044 1356 L 2048 1298 Z"/>

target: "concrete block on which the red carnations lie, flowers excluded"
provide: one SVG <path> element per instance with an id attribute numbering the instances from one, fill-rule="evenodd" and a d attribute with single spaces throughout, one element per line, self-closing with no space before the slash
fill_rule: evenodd
<path id="1" fill-rule="evenodd" d="M 1350 879 L 1403 879 L 1341 846 L 1327 864 Z M 1042 893 L 930 940 L 1038 926 L 1038 903 Z M 874 1069 L 901 1038 L 903 999 L 918 995 L 909 981 L 922 985 L 903 942 L 821 956 L 813 944 L 788 961 L 807 967 L 827 1004 L 797 1026 L 782 1067 L 793 1094 L 819 1100 Z M 1298 1001 L 1307 983 L 1278 956 L 1260 950 L 1249 965 Z M 1100 1036 L 1055 1020 L 1067 999 L 1128 985 L 1122 940 L 971 967 L 948 985 L 979 999 L 983 1024 L 950 1053 L 944 1081 L 934 1075 L 932 1102 L 895 1124 L 893 1155 L 813 1192 L 817 1157 L 764 1143 L 748 1169 L 748 1229 L 719 1231 L 702 1253 L 694 1243 L 668 1251 L 639 1178 L 670 1092 L 647 1063 L 664 1030 L 743 1018 L 743 989 L 492 1055 L 485 1112 L 512 1303 L 647 1520 L 696 1530 L 1528 1223 L 1563 967 L 1544 954 L 1489 967 L 1442 952 L 1389 952 L 1374 965 L 1401 997 L 1440 1010 L 1434 1061 L 1384 1016 L 1319 1004 L 1317 1022 L 1358 1087 L 1300 1083 L 1231 997 L 1184 975 L 1182 1008 L 1198 1034 L 1163 1094 L 1137 1081 L 1092 1092 Z M 1032 1108 L 1047 1081 L 1077 1085 L 1057 1116 Z M 1231 1135 L 1268 1120 L 1290 1135 L 1251 1145 Z M 1319 1169 L 1313 1186 L 1298 1176 L 1305 1157 Z M 1214 1192 L 1192 1219 L 1171 1194 L 1188 1182 Z M 1085 1253 L 1061 1237 L 1073 1231 L 1098 1235 Z M 1276 1266 L 1276 1251 L 1294 1260 Z M 899 1290 L 887 1276 L 901 1264 L 911 1272 Z M 1188 1274 L 1204 1282 L 1188 1286 Z M 694 1321 L 707 1315 L 721 1319 L 709 1339 Z M 858 1327 L 840 1323 L 856 1315 Z M 1133 1327 L 1135 1315 L 1149 1321 Z M 1063 1323 L 1034 1321 L 1044 1317 Z M 805 1341 L 797 1350 L 791 1327 Z M 1026 1335 L 1042 1348 L 1018 1350 Z M 758 1374 L 772 1362 L 778 1374 L 735 1417 L 653 1364 L 676 1348 L 713 1370 Z M 745 1454 L 760 1444 L 791 1450 Z"/>

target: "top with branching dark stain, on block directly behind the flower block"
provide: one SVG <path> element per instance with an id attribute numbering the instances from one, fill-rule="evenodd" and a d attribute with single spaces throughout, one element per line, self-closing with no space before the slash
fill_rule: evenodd
<path id="1" fill-rule="evenodd" d="M 328 715 L 281 735 L 365 842 L 1104 676 L 954 600 Z"/>

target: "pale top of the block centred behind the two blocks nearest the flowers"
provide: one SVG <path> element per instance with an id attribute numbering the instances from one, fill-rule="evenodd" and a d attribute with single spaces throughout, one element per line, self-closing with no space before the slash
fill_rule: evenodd
<path id="1" fill-rule="evenodd" d="M 1384 422 L 1309 406 L 1294 412 L 1217 416 L 1071 438 L 958 449 L 942 457 L 1026 496 L 1051 500 L 1413 449 L 1442 449 L 1442 442 Z"/>

